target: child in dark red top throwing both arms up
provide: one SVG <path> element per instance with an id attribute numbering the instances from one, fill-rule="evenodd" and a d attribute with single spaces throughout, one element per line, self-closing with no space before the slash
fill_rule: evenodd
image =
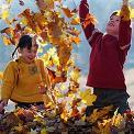
<path id="1" fill-rule="evenodd" d="M 94 18 L 89 13 L 87 0 L 81 0 L 79 7 L 80 22 L 85 35 L 91 46 L 90 69 L 87 86 L 93 87 L 97 96 L 92 107 L 87 107 L 86 115 L 93 109 L 113 105 L 120 113 L 130 110 L 123 65 L 130 49 L 132 29 L 130 20 L 129 0 L 118 12 L 112 13 L 103 34 L 94 27 Z M 90 98 L 89 98 L 90 99 Z"/>

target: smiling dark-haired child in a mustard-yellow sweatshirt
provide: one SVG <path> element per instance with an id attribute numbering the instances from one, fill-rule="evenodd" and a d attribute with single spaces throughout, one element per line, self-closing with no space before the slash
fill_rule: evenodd
<path id="1" fill-rule="evenodd" d="M 14 51 L 18 51 L 20 56 L 11 60 L 3 72 L 0 111 L 9 99 L 20 107 L 44 103 L 43 96 L 52 86 L 43 60 L 36 58 L 37 48 L 35 36 L 23 35 L 20 38 Z"/>

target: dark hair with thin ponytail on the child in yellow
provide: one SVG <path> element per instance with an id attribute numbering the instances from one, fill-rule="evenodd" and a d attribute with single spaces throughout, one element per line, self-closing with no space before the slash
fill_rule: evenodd
<path id="1" fill-rule="evenodd" d="M 23 49 L 27 47 L 27 49 L 31 49 L 32 47 L 32 37 L 30 35 L 22 35 L 18 46 L 15 47 L 14 52 L 12 53 L 12 58 L 14 57 L 14 54 L 18 48 Z"/>

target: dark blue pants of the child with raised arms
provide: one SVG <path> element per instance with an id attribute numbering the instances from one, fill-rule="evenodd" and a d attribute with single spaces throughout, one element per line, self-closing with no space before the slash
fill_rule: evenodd
<path id="1" fill-rule="evenodd" d="M 93 105 L 88 105 L 86 109 L 86 115 L 89 116 L 93 109 L 101 109 L 103 107 L 113 105 L 113 112 L 119 108 L 119 113 L 124 113 L 130 110 L 127 99 L 129 93 L 122 89 L 102 89 L 93 88 L 93 93 L 97 96 L 97 100 Z"/>

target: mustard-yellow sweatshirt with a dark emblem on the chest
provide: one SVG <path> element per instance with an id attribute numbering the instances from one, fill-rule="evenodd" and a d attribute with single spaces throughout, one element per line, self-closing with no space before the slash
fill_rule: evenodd
<path id="1" fill-rule="evenodd" d="M 27 64 L 20 57 L 10 62 L 3 72 L 1 100 L 41 102 L 44 94 L 40 93 L 38 87 L 43 83 L 51 88 L 43 60 L 35 59 L 32 64 Z"/>

